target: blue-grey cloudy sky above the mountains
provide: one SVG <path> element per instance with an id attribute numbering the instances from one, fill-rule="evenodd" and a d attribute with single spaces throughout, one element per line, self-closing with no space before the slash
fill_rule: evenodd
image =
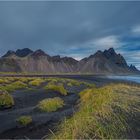
<path id="1" fill-rule="evenodd" d="M 140 69 L 140 2 L 0 1 L 0 55 L 28 47 L 81 59 L 110 47 Z"/>

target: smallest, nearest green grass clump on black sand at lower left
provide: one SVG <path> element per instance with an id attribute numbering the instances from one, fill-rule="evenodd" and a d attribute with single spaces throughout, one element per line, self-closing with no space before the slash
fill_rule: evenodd
<path id="1" fill-rule="evenodd" d="M 20 116 L 16 121 L 21 126 L 27 126 L 32 123 L 32 117 L 31 116 Z"/>

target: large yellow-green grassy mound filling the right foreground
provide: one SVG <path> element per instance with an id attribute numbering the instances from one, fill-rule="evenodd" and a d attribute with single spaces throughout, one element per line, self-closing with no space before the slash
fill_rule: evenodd
<path id="1" fill-rule="evenodd" d="M 140 88 L 109 85 L 80 93 L 80 108 L 65 119 L 55 139 L 137 138 L 140 133 Z"/>

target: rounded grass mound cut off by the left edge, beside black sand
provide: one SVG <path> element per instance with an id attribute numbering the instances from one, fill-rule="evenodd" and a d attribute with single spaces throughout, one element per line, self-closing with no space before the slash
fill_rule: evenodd
<path id="1" fill-rule="evenodd" d="M 0 109 L 10 108 L 13 105 L 13 97 L 6 91 L 0 91 Z"/>

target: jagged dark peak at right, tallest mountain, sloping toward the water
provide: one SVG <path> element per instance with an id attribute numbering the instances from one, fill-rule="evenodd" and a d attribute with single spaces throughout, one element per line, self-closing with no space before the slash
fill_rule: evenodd
<path id="1" fill-rule="evenodd" d="M 78 63 L 78 70 L 82 73 L 94 74 L 130 74 L 139 73 L 134 66 L 128 66 L 124 57 L 117 54 L 113 48 L 97 51 L 94 55 L 84 58 Z"/>

